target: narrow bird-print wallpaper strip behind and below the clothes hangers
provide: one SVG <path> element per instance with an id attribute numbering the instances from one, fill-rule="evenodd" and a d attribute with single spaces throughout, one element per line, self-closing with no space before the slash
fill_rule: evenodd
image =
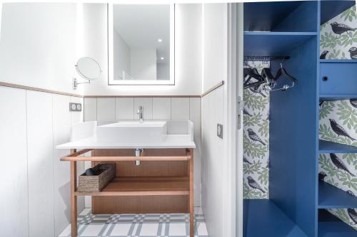
<path id="1" fill-rule="evenodd" d="M 267 61 L 248 61 L 246 67 L 270 68 Z M 268 199 L 269 93 L 243 90 L 243 198 Z"/>

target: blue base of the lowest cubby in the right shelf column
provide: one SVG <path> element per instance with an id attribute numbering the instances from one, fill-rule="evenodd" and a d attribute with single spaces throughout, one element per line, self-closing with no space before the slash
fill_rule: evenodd
<path id="1" fill-rule="evenodd" d="M 326 210 L 318 213 L 318 237 L 356 237 L 356 230 Z"/>

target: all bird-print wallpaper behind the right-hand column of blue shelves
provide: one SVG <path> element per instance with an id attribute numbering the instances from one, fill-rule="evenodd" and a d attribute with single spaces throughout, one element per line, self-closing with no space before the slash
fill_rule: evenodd
<path id="1" fill-rule="evenodd" d="M 357 59 L 356 6 L 321 26 L 321 59 Z M 357 100 L 324 101 L 320 139 L 357 147 Z M 357 195 L 357 154 L 320 154 L 318 179 Z M 327 209 L 357 230 L 357 209 Z"/>

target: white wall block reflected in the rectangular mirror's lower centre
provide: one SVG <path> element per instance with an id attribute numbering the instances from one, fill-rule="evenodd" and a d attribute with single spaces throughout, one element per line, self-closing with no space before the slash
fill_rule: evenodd
<path id="1" fill-rule="evenodd" d="M 130 67 L 135 80 L 156 80 L 156 48 L 131 48 Z"/>

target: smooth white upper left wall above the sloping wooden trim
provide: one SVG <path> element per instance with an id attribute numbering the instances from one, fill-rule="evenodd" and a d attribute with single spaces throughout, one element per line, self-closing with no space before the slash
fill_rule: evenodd
<path id="1" fill-rule="evenodd" d="M 73 93 L 76 11 L 76 4 L 3 4 L 1 82 Z"/>

